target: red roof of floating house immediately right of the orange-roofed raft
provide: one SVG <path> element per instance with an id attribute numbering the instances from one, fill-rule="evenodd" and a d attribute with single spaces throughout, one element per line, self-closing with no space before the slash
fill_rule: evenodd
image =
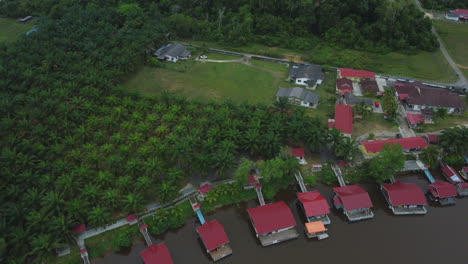
<path id="1" fill-rule="evenodd" d="M 369 194 L 357 184 L 335 187 L 333 191 L 339 196 L 345 210 L 371 208 L 373 206 Z"/>

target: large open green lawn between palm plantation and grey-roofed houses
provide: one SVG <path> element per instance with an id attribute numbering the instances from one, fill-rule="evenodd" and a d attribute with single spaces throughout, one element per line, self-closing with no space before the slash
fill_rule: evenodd
<path id="1" fill-rule="evenodd" d="M 286 78 L 285 71 L 273 71 L 276 67 L 273 65 L 263 68 L 238 62 L 184 63 L 187 66 L 180 64 L 178 67 L 183 69 L 180 71 L 174 70 L 175 65 L 164 65 L 165 68 L 143 67 L 124 86 L 149 96 L 167 90 L 188 98 L 232 99 L 270 104 L 275 98 L 280 81 Z"/>

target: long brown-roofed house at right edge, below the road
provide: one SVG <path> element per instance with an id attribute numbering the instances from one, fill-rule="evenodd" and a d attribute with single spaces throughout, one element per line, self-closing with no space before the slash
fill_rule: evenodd
<path id="1" fill-rule="evenodd" d="M 407 110 L 437 110 L 445 108 L 449 114 L 465 110 L 460 96 L 447 89 L 429 88 L 420 82 L 395 83 L 396 96 Z"/>

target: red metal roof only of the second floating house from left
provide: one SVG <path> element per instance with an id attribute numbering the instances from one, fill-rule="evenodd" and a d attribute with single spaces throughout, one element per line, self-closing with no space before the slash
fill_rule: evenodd
<path id="1" fill-rule="evenodd" d="M 216 220 L 205 222 L 202 226 L 197 228 L 197 232 L 208 251 L 213 251 L 229 243 L 229 238 L 224 231 L 224 227 Z"/>

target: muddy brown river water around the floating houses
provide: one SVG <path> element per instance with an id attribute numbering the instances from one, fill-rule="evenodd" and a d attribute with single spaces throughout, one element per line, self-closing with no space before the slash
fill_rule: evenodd
<path id="1" fill-rule="evenodd" d="M 429 184 L 419 174 L 406 174 L 397 180 L 417 183 L 424 191 Z M 257 206 L 256 201 L 225 207 L 206 215 L 208 220 L 217 219 L 224 225 L 234 252 L 216 263 L 468 263 L 468 198 L 458 199 L 457 204 L 450 207 L 431 204 L 425 216 L 394 216 L 377 185 L 362 186 L 369 191 L 374 203 L 374 219 L 350 224 L 339 211 L 332 209 L 332 224 L 328 226 L 330 237 L 323 241 L 306 238 L 305 219 L 296 202 L 295 186 L 281 192 L 275 199 L 286 201 L 294 212 L 301 234 L 295 240 L 262 247 L 246 212 L 246 208 Z M 315 189 L 331 203 L 332 188 L 319 185 Z M 197 226 L 197 219 L 191 218 L 179 230 L 156 237 L 154 241 L 167 244 L 176 264 L 214 263 L 195 232 Z M 140 242 L 126 255 L 112 253 L 93 259 L 92 263 L 142 263 L 139 252 L 144 249 L 145 245 Z"/>

